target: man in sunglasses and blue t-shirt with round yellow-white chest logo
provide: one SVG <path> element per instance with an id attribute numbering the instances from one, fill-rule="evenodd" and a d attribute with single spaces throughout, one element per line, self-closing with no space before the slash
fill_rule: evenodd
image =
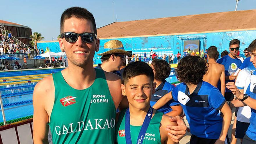
<path id="1" fill-rule="evenodd" d="M 229 43 L 229 51 L 230 53 L 226 56 L 223 56 L 221 59 L 217 61 L 217 63 L 224 65 L 225 67 L 225 80 L 226 83 L 232 81 L 234 82 L 236 79 L 236 75 L 234 73 L 238 70 L 241 65 L 241 60 L 237 58 L 237 53 L 239 51 L 240 40 L 234 39 Z M 234 94 L 226 88 L 225 99 L 227 101 L 234 99 Z"/>

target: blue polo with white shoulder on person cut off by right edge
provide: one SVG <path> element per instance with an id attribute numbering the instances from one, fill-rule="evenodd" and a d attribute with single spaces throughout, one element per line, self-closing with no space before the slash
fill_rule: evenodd
<path id="1" fill-rule="evenodd" d="M 251 76 L 251 83 L 246 90 L 246 94 L 248 94 L 251 98 L 256 99 L 256 72 L 253 72 Z M 252 115 L 250 118 L 250 125 L 246 131 L 246 135 L 256 141 L 256 110 L 252 109 Z"/>

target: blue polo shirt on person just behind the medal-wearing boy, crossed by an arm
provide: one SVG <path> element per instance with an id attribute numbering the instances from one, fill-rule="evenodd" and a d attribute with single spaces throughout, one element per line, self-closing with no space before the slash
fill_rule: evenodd
<path id="1" fill-rule="evenodd" d="M 161 97 L 163 97 L 165 94 L 172 91 L 174 88 L 175 88 L 175 86 L 168 83 L 166 80 L 163 81 L 156 88 L 155 93 L 151 96 L 150 105 L 153 106 Z M 173 111 L 173 109 L 170 106 L 177 106 L 177 105 L 180 105 L 179 102 L 174 102 L 174 100 L 170 100 L 164 106 L 162 106 L 160 109 L 157 109 L 157 110 L 162 113 L 169 113 L 169 112 Z"/>

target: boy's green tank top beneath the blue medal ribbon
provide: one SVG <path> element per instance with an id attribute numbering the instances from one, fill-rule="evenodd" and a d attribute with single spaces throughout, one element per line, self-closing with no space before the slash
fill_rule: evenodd
<path id="1" fill-rule="evenodd" d="M 120 112 L 118 117 L 118 122 L 116 125 L 116 141 L 118 144 L 126 144 L 125 141 L 125 110 Z M 163 113 L 156 111 L 153 118 L 150 120 L 149 126 L 147 128 L 146 134 L 144 136 L 143 144 L 161 144 L 160 137 L 160 122 L 162 120 Z M 139 132 L 141 130 L 141 126 L 133 126 L 130 125 L 131 131 L 131 141 L 133 144 L 137 143 L 137 138 Z"/>

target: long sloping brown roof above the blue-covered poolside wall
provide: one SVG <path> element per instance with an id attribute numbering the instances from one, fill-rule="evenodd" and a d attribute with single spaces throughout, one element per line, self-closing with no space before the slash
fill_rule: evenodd
<path id="1" fill-rule="evenodd" d="M 243 10 L 114 22 L 98 28 L 97 36 L 107 39 L 256 30 L 255 17 L 256 10 Z"/>

